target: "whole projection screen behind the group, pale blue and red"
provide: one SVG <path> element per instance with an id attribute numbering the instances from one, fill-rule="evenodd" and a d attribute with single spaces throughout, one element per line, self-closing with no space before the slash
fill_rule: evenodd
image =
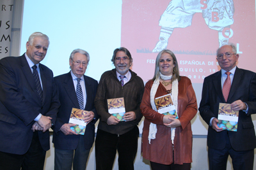
<path id="1" fill-rule="evenodd" d="M 70 53 L 82 48 L 90 54 L 85 74 L 99 81 L 104 71 L 114 68 L 113 50 L 125 46 L 132 54 L 132 71 L 146 83 L 154 76 L 158 51 L 168 48 L 177 57 L 180 75 L 191 79 L 198 106 L 205 76 L 220 70 L 220 45 L 236 44 L 237 67 L 256 71 L 254 0 L 25 0 L 20 55 L 35 31 L 49 36 L 42 64 L 54 76 L 70 71 Z M 199 113 L 191 122 L 193 134 L 207 134 Z M 142 127 L 143 121 L 140 132 Z"/>

